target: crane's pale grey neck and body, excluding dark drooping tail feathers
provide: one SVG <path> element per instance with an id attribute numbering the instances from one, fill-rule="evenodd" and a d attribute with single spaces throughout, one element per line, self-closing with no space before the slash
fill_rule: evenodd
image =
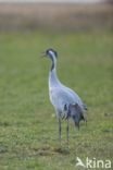
<path id="1" fill-rule="evenodd" d="M 52 53 L 53 54 L 53 53 Z M 64 106 L 70 106 L 70 104 L 78 104 L 84 112 L 84 104 L 79 96 L 71 88 L 64 86 L 58 78 L 56 75 L 56 60 L 53 54 L 52 66 L 49 73 L 49 96 L 50 101 L 53 105 L 56 117 L 65 118 L 67 114 L 64 110 Z"/>

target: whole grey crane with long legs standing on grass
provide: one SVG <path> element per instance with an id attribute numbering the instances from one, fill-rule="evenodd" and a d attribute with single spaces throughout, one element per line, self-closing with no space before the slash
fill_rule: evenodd
<path id="1" fill-rule="evenodd" d="M 61 121 L 67 121 L 66 134 L 68 144 L 68 120 L 74 121 L 75 126 L 79 129 L 79 122 L 83 120 L 87 122 L 86 105 L 81 101 L 80 97 L 71 88 L 61 83 L 56 74 L 58 52 L 49 48 L 41 54 L 42 57 L 51 60 L 51 68 L 49 71 L 49 97 L 55 110 L 55 116 L 59 122 L 59 141 L 61 143 Z"/>

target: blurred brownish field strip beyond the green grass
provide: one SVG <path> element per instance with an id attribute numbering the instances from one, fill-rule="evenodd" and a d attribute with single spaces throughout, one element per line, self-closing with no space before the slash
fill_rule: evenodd
<path id="1" fill-rule="evenodd" d="M 3 2 L 0 3 L 0 31 L 64 33 L 113 29 L 112 0 Z"/>

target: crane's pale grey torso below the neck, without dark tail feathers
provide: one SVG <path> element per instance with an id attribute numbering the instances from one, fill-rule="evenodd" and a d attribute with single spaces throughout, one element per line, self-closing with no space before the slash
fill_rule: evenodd
<path id="1" fill-rule="evenodd" d="M 49 83 L 49 96 L 51 104 L 56 110 L 58 118 L 60 118 L 61 116 L 65 117 L 65 105 L 68 107 L 70 104 L 78 104 L 81 107 L 81 110 L 84 110 L 83 102 L 78 95 L 75 94 L 72 89 L 62 85 L 61 83 L 55 85 L 51 82 Z"/>

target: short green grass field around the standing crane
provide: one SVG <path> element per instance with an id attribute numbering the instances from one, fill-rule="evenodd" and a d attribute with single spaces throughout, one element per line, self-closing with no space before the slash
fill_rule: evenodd
<path id="1" fill-rule="evenodd" d="M 49 47 L 60 80 L 88 106 L 87 126 L 70 123 L 70 153 L 65 121 L 60 150 L 50 61 L 40 58 Z M 80 170 L 77 156 L 113 160 L 113 33 L 0 33 L 0 170 Z"/>

